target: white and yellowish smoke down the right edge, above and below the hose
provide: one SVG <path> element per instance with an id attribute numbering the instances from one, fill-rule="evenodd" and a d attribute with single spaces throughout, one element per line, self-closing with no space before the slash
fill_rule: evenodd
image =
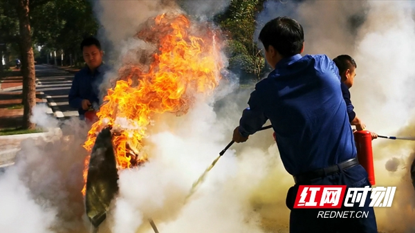
<path id="1" fill-rule="evenodd" d="M 391 136 L 405 130 L 414 117 L 415 71 L 412 50 L 415 49 L 414 11 L 410 1 L 368 1 L 370 11 L 365 24 L 359 30 L 359 42 L 354 58 L 358 63 L 355 84 L 351 95 L 356 102 L 356 112 L 368 129 L 376 133 Z M 393 119 L 393 120 L 392 120 Z M 413 128 L 413 127 L 412 127 Z M 410 135 L 405 135 L 410 136 Z M 412 221 L 415 214 L 414 187 L 409 178 L 411 160 L 409 154 L 414 149 L 412 142 L 374 142 L 376 179 L 378 186 L 397 186 L 394 206 L 391 209 L 376 209 L 378 225 L 385 230 L 408 232 L 414 230 Z M 391 144 L 394 145 L 391 145 Z M 386 165 L 393 163 L 393 157 L 400 157 L 405 169 L 392 174 Z M 393 160 L 392 160 L 393 161 Z M 397 162 L 398 160 L 394 160 Z M 387 221 L 382 221 L 385 218 Z M 391 224 L 393 223 L 393 224 Z"/>

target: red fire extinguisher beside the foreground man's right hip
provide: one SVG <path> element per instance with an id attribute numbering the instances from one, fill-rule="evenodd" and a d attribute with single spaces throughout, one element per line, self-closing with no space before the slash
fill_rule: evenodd
<path id="1" fill-rule="evenodd" d="M 358 160 L 369 175 L 369 182 L 375 185 L 374 154 L 371 147 L 371 133 L 366 130 L 355 131 L 354 138 L 358 150 Z"/>

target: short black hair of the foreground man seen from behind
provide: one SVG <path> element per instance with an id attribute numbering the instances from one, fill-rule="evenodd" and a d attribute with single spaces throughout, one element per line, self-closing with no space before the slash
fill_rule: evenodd
<path id="1" fill-rule="evenodd" d="M 295 19 L 281 16 L 266 23 L 258 39 L 267 51 L 269 46 L 273 46 L 283 57 L 291 57 L 301 53 L 304 30 Z"/>

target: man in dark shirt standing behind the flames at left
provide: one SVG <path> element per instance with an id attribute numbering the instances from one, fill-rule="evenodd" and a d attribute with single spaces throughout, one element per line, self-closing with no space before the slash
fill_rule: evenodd
<path id="1" fill-rule="evenodd" d="M 84 39 L 81 50 L 86 66 L 75 74 L 68 99 L 69 105 L 78 109 L 80 119 L 83 120 L 86 111 L 91 108 L 98 110 L 102 104 L 99 86 L 109 68 L 102 63 L 104 53 L 98 39 L 94 37 Z"/>

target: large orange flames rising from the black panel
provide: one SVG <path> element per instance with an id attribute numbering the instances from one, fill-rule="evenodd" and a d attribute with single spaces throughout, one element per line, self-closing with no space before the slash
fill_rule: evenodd
<path id="1" fill-rule="evenodd" d="M 125 64 L 118 81 L 104 97 L 84 148 L 91 153 L 97 134 L 112 127 L 118 169 L 147 161 L 142 140 L 156 113 L 187 113 L 196 93 L 209 95 L 219 84 L 223 68 L 214 30 L 193 25 L 185 15 L 158 15 L 136 37 L 156 44 L 148 68 Z M 196 28 L 196 27 L 197 28 Z M 85 160 L 86 181 L 89 156 Z M 85 187 L 82 190 L 85 194 Z"/>

